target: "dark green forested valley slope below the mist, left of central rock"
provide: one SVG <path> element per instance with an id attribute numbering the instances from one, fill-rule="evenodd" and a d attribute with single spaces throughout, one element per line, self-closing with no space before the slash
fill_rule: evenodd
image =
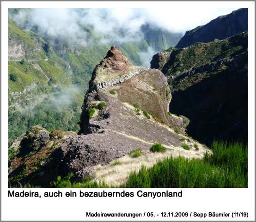
<path id="1" fill-rule="evenodd" d="M 80 98 L 82 102 L 83 97 Z M 48 105 L 46 105 L 48 104 Z M 79 101 L 69 105 L 53 104 L 50 98 L 26 112 L 15 107 L 8 108 L 8 146 L 13 140 L 25 133 L 32 126 L 43 126 L 48 131 L 61 129 L 64 131 L 79 131 L 81 115 Z"/>

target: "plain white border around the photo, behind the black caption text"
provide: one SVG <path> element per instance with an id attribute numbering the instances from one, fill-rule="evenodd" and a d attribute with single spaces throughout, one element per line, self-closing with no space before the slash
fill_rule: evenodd
<path id="1" fill-rule="evenodd" d="M 43 198 L 43 192 L 57 191 L 56 188 L 27 188 L 25 191 L 40 192 L 42 198 L 8 198 L 7 188 L 7 8 L 8 7 L 152 7 L 155 10 L 169 7 L 183 12 L 184 7 L 204 10 L 205 7 L 248 7 L 249 8 L 249 188 L 183 188 L 182 198 L 139 198 L 136 192 L 141 189 L 129 188 L 133 198 Z M 175 8 L 175 9 L 174 9 Z M 171 13 L 172 10 L 170 10 Z M 2 220 L 132 220 L 133 218 L 86 218 L 86 212 L 144 213 L 154 212 L 197 212 L 232 213 L 248 212 L 246 220 L 254 220 L 254 2 L 2 2 L 2 180 L 1 201 Z M 186 15 L 184 15 L 186 16 Z M 189 18 L 188 18 L 189 19 Z M 22 191 L 23 189 L 15 189 Z M 70 191 L 62 188 L 61 192 Z M 80 189 L 73 189 L 79 193 Z M 102 191 L 102 188 L 82 189 Z M 105 191 L 119 191 L 121 188 L 109 188 Z M 143 191 L 166 191 L 164 188 L 148 188 Z M 181 189 L 169 188 L 179 192 Z M 193 213 L 192 213 L 193 214 Z M 198 217 L 152 217 L 134 218 L 134 220 L 200 220 Z M 211 218 L 201 220 L 235 220 L 232 218 Z M 245 218 L 237 218 L 243 220 Z"/>

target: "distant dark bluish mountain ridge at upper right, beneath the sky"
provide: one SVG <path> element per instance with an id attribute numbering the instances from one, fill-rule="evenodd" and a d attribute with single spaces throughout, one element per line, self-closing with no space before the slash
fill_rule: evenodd
<path id="1" fill-rule="evenodd" d="M 248 8 L 240 8 L 232 13 L 219 16 L 206 25 L 187 31 L 176 48 L 184 48 L 195 42 L 211 42 L 225 39 L 248 30 Z"/>

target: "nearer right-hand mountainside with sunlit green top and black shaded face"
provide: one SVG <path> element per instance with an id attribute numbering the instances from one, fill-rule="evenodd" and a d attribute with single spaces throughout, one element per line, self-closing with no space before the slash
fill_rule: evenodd
<path id="1" fill-rule="evenodd" d="M 168 78 L 170 111 L 190 119 L 187 132 L 205 144 L 248 140 L 248 31 L 224 40 L 169 48 L 152 68 Z"/>

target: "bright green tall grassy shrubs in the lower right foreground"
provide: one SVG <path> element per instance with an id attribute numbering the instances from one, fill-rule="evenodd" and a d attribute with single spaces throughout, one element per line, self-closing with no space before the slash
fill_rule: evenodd
<path id="1" fill-rule="evenodd" d="M 215 142 L 202 160 L 167 158 L 132 173 L 124 187 L 248 187 L 248 146 Z"/>

